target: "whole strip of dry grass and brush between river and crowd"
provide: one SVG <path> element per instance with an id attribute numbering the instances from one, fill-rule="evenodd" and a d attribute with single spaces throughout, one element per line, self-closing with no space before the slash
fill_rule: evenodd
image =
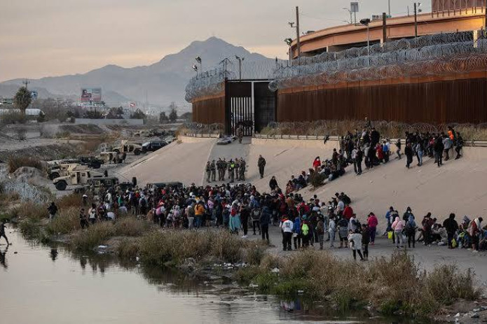
<path id="1" fill-rule="evenodd" d="M 78 209 L 73 207 L 74 202 L 79 204 L 78 198 L 60 199 L 60 213 L 51 222 L 46 220 L 44 206 L 23 205 L 13 216 L 26 237 L 62 241 L 76 253 L 113 253 L 121 260 L 177 268 L 193 276 L 226 276 L 245 289 L 285 297 L 304 295 L 336 311 L 366 308 L 371 316 L 432 318 L 453 314 L 458 302 L 463 307 L 474 305 L 483 294 L 469 270 L 435 265 L 425 272 L 410 254 L 391 253 L 392 249 L 358 263 L 350 255 L 340 258 L 331 251 L 277 253 L 278 247 L 240 239 L 227 230 L 160 230 L 134 216 L 81 230 Z M 273 230 L 271 240 L 278 246 L 276 234 Z"/>

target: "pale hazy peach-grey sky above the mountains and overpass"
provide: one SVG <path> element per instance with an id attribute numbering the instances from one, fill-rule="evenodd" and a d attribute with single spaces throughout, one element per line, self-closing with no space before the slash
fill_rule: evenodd
<path id="1" fill-rule="evenodd" d="M 286 58 L 287 22 L 301 30 L 344 24 L 350 0 L 1 0 L 0 80 L 85 73 L 107 64 L 147 65 L 210 36 Z M 413 1 L 391 0 L 394 15 Z M 430 1 L 424 1 L 430 10 Z M 387 11 L 360 1 L 358 17 Z"/>

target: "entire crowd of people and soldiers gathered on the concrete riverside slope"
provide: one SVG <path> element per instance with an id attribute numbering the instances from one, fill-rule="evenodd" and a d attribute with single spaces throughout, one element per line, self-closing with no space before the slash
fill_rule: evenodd
<path id="1" fill-rule="evenodd" d="M 382 143 L 381 143 L 382 141 Z M 396 143 L 397 158 L 401 159 L 401 141 Z M 411 151 L 418 158 L 418 165 L 423 164 L 423 155 L 435 158 L 440 166 L 450 158 L 449 151 L 455 148 L 455 159 L 461 157 L 462 137 L 449 127 L 447 134 L 406 133 L 407 166 L 411 164 Z M 295 178 L 291 176 L 286 188 L 282 190 L 275 176 L 269 181 L 268 193 L 259 192 L 250 183 L 234 184 L 245 181 L 246 162 L 244 159 L 229 160 L 219 158 L 207 162 L 208 185 L 188 187 L 179 185 L 134 186 L 127 190 L 119 187 L 99 188 L 83 195 L 80 211 L 80 225 L 89 227 L 97 222 L 115 221 L 117 216 L 129 213 L 147 218 L 160 227 L 172 230 L 193 230 L 200 227 L 219 227 L 228 229 L 233 234 L 242 233 L 247 238 L 249 232 L 259 234 L 261 239 L 269 241 L 269 227 L 280 228 L 282 250 L 306 249 L 310 246 L 324 248 L 350 248 L 353 258 L 361 260 L 369 257 L 369 245 L 374 245 L 379 225 L 378 217 L 369 213 L 363 223 L 359 221 L 351 206 L 351 199 L 341 192 L 328 201 L 320 200 L 317 195 L 305 199 L 299 190 L 308 186 L 310 174 L 324 174 L 329 181 L 345 174 L 345 167 L 354 165 L 357 175 L 362 174 L 362 162 L 365 167 L 373 168 L 390 160 L 391 144 L 381 139 L 379 132 L 368 125 L 362 132 L 357 129 L 341 137 L 340 148 L 334 149 L 329 160 L 322 162 L 316 157 L 310 172 L 305 171 Z M 263 178 L 266 160 L 259 156 L 257 162 L 259 175 Z M 228 183 L 214 184 L 218 181 Z M 227 174 L 228 171 L 228 174 Z M 53 202 L 48 206 L 50 219 L 56 217 L 57 206 Z M 418 222 L 410 207 L 399 216 L 392 206 L 385 213 L 385 231 L 397 248 L 415 248 L 416 242 L 425 245 L 447 245 L 448 248 L 472 248 L 474 251 L 486 250 L 487 228 L 482 227 L 481 217 L 470 220 L 465 216 L 458 224 L 455 214 L 451 214 L 443 223 L 427 213 Z M 0 238 L 4 227 L 0 226 Z M 3 235 L 2 235 L 3 234 Z M 6 237 L 5 237 L 6 238 Z"/>

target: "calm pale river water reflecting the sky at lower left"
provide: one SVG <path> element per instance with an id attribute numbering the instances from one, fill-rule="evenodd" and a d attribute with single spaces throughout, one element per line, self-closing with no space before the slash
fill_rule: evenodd
<path id="1" fill-rule="evenodd" d="M 300 300 L 121 264 L 110 255 L 73 255 L 31 244 L 12 229 L 8 237 L 13 245 L 0 245 L 1 324 L 392 323 L 327 314 Z"/>

